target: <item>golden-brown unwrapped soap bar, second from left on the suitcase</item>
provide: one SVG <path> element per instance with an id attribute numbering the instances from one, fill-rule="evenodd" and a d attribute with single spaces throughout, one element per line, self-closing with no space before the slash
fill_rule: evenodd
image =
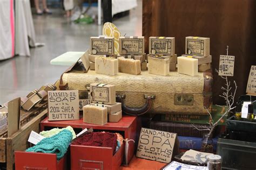
<path id="1" fill-rule="evenodd" d="M 123 56 L 118 58 L 118 70 L 121 73 L 138 75 L 141 72 L 140 61 L 125 59 Z"/>

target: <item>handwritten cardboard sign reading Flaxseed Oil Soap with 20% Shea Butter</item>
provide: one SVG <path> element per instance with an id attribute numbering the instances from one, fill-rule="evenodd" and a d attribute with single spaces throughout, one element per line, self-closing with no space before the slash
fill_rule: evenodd
<path id="1" fill-rule="evenodd" d="M 78 90 L 48 91 L 49 121 L 79 119 Z"/>

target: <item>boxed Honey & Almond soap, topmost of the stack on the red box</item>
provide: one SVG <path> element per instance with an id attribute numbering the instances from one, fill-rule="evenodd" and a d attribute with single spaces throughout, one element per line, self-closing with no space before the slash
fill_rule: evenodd
<path id="1" fill-rule="evenodd" d="M 116 86 L 111 84 L 90 84 L 90 91 L 92 95 L 92 102 L 102 104 L 116 103 Z"/>

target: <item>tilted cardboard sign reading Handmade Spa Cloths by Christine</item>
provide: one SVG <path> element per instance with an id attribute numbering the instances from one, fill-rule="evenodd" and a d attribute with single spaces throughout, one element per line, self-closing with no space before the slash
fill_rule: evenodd
<path id="1" fill-rule="evenodd" d="M 168 163 L 172 159 L 177 134 L 142 128 L 136 156 Z"/>

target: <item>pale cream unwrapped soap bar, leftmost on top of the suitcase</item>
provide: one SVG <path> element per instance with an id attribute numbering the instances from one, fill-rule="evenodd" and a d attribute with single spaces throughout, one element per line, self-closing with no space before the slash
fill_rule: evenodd
<path id="1" fill-rule="evenodd" d="M 105 75 L 116 75 L 118 73 L 118 60 L 112 57 L 95 58 L 95 72 Z"/>

